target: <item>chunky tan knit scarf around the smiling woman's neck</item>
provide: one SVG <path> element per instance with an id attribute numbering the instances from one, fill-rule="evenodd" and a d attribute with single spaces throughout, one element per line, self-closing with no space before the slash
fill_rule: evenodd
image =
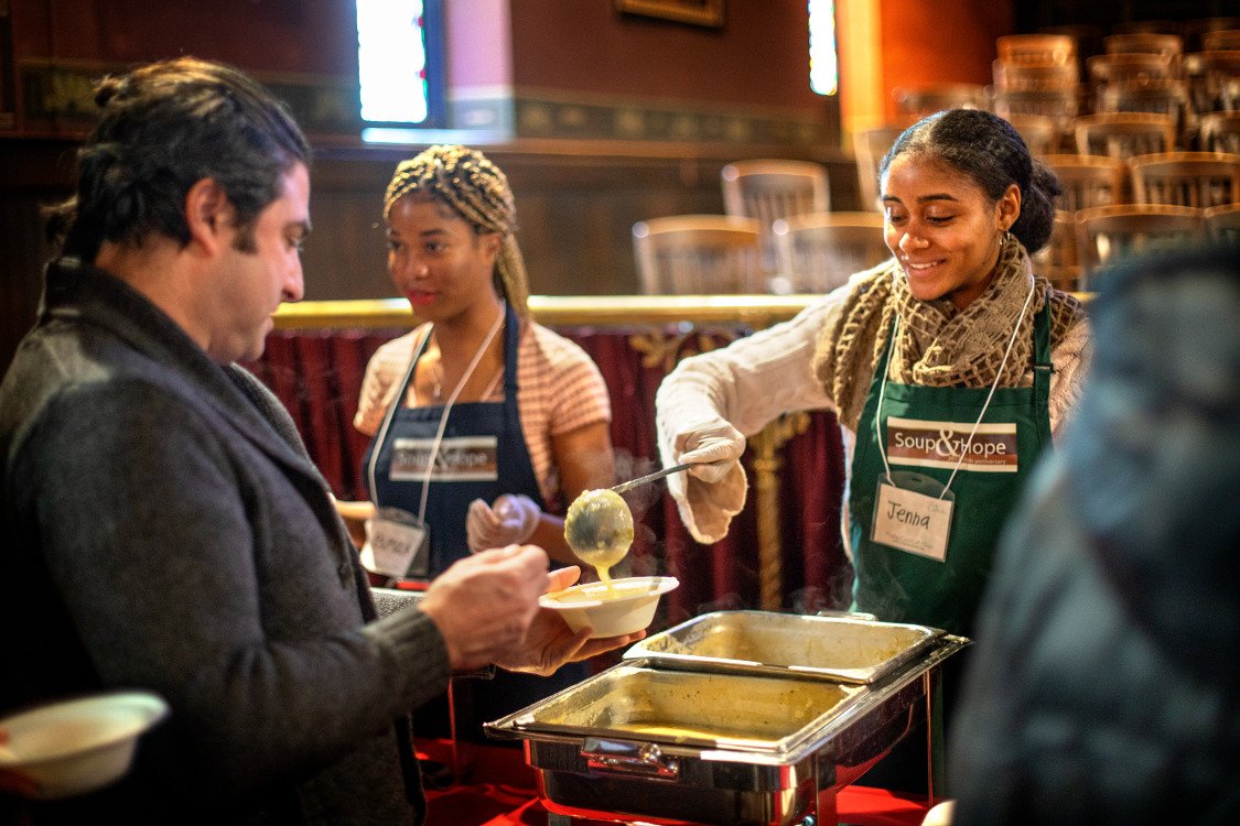
<path id="1" fill-rule="evenodd" d="M 839 320 L 823 328 L 813 358 L 815 373 L 835 400 L 839 421 L 857 430 L 897 313 L 900 324 L 892 352 L 892 381 L 930 388 L 991 386 L 1030 286 L 1033 300 L 998 376 L 999 386 L 1006 388 L 1033 384 L 1033 322 L 1048 301 L 1052 346 L 1085 312 L 1080 301 L 1034 277 L 1029 256 L 1014 237 L 1004 235 L 994 277 L 963 310 L 946 298 L 914 298 L 895 259 L 875 267 L 852 289 Z"/>

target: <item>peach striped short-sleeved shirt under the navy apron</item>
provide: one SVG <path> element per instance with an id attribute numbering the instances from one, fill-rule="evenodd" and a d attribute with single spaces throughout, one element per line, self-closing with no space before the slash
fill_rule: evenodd
<path id="1" fill-rule="evenodd" d="M 371 357 L 353 419 L 357 430 L 372 437 L 378 432 L 397 385 L 409 368 L 415 346 L 429 332 L 430 326 L 422 324 L 383 344 Z M 502 400 L 501 378 L 492 383 L 485 401 Z M 413 404 L 412 388 L 405 404 Z M 543 502 L 552 508 L 559 494 L 552 437 L 611 421 L 611 400 L 603 374 L 578 344 L 542 324 L 522 322 L 517 346 L 517 412 L 534 476 L 538 477 L 538 489 Z"/>

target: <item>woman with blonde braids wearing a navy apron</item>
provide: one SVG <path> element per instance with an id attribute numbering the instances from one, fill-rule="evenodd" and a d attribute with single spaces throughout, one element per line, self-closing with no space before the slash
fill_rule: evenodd
<path id="1" fill-rule="evenodd" d="M 433 578 L 510 544 L 574 562 L 557 514 L 614 483 L 611 409 L 585 352 L 528 318 L 507 178 L 481 152 L 432 146 L 397 166 L 383 217 L 388 271 L 423 323 L 384 344 L 362 384 L 355 426 L 373 437 L 362 471 L 377 505 L 362 562 Z M 585 674 L 469 681 L 474 722 Z"/>

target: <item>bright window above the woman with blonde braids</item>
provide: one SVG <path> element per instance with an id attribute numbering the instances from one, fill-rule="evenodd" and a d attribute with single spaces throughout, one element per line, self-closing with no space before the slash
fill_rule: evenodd
<path id="1" fill-rule="evenodd" d="M 443 126 L 439 0 L 357 0 L 362 120 L 371 126 Z"/>

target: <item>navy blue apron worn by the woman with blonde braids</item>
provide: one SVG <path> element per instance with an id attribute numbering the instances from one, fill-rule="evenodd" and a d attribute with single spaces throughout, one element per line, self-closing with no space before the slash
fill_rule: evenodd
<path id="1" fill-rule="evenodd" d="M 503 401 L 470 401 L 453 405 L 443 443 L 436 457 L 436 469 L 430 477 L 427 495 L 425 523 L 430 531 L 430 556 L 427 571 L 410 571 L 410 576 L 434 578 L 453 562 L 470 555 L 465 534 L 465 516 L 474 499 L 495 502 L 503 493 L 525 494 L 541 509 L 544 508 L 538 489 L 529 451 L 526 448 L 517 407 L 517 350 L 521 323 L 512 307 L 506 307 L 503 332 Z M 417 363 L 430 341 L 429 333 L 413 354 Z M 427 454 L 439 430 L 443 405 L 407 407 L 404 399 L 414 370 L 393 396 L 394 411 L 382 445 L 371 445 L 362 459 L 370 467 L 371 453 L 378 450 L 374 490 L 371 500 L 379 506 L 394 506 L 418 514 L 425 464 L 405 468 L 392 478 L 393 457 L 401 467 L 401 451 Z M 363 473 L 363 476 L 366 476 Z M 523 708 L 543 697 L 568 687 L 588 676 L 584 663 L 562 667 L 549 677 L 496 670 L 492 680 L 459 680 L 454 698 L 458 703 L 459 734 L 481 742 L 484 721 L 496 719 Z M 415 716 L 415 727 L 423 736 L 446 736 L 446 696 L 424 705 Z"/>

